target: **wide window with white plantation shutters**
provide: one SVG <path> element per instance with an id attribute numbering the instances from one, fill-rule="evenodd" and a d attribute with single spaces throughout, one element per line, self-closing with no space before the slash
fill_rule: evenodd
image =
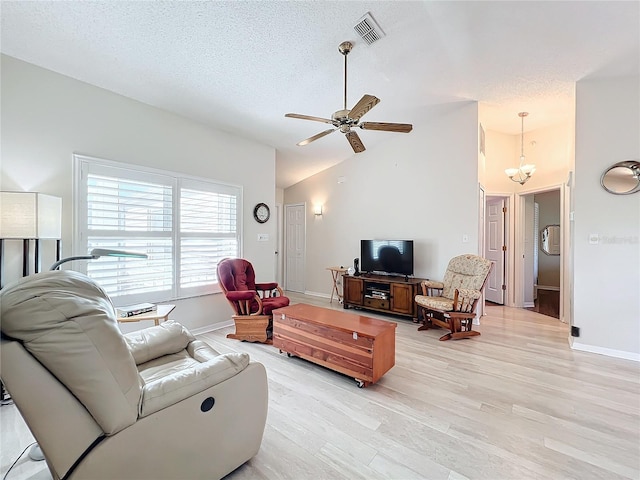
<path id="1" fill-rule="evenodd" d="M 240 256 L 240 187 L 74 157 L 77 254 L 110 248 L 148 258 L 101 257 L 72 268 L 86 271 L 118 304 L 218 290 L 218 262 Z"/>

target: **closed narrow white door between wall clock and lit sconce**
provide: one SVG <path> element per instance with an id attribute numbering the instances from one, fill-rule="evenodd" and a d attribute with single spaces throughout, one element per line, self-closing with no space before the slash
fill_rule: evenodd
<path id="1" fill-rule="evenodd" d="M 305 206 L 285 205 L 285 289 L 304 293 Z"/>

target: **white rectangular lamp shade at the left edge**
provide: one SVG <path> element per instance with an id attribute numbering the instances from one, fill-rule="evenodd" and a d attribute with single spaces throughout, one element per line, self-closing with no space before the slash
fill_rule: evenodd
<path id="1" fill-rule="evenodd" d="M 0 192 L 0 238 L 61 238 L 62 199 L 37 192 Z"/>

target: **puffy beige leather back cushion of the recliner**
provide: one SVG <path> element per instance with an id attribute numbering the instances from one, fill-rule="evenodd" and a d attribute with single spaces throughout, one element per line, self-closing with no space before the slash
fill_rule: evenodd
<path id="1" fill-rule="evenodd" d="M 93 280 L 71 270 L 25 277 L 0 290 L 0 318 L 2 332 L 22 341 L 106 434 L 136 421 L 141 380 L 113 304 Z"/>

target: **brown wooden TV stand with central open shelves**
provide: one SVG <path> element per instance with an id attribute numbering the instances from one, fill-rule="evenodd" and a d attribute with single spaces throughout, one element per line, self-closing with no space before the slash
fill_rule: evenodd
<path id="1" fill-rule="evenodd" d="M 343 306 L 418 318 L 415 297 L 424 278 L 363 274 L 343 277 Z"/>

